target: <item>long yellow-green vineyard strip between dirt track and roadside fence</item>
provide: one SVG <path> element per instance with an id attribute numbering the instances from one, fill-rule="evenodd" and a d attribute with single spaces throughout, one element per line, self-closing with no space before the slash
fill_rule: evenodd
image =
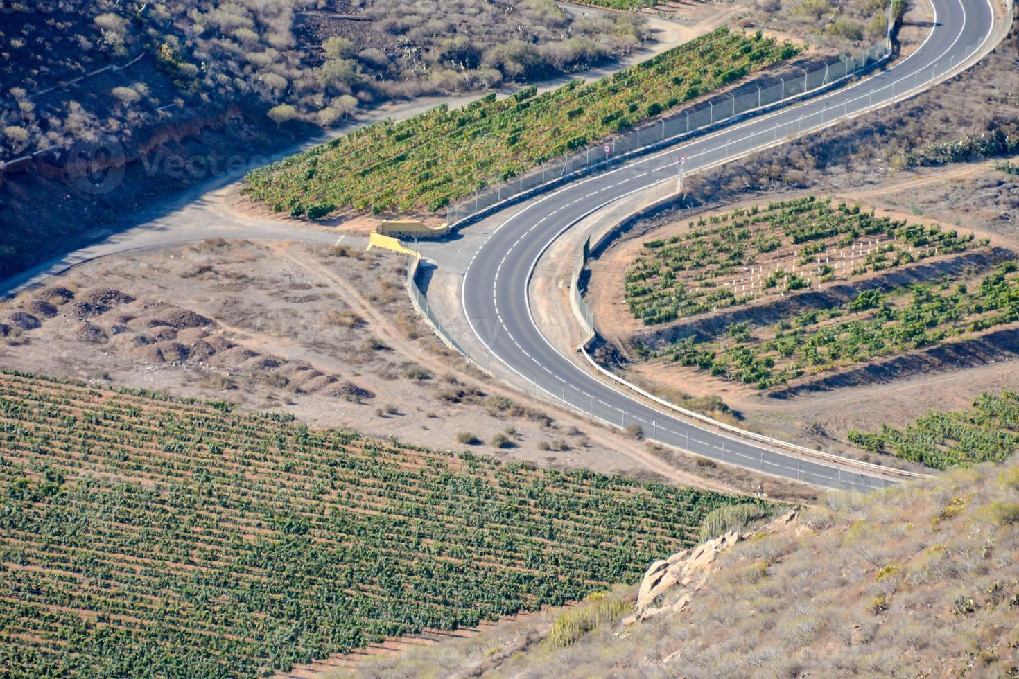
<path id="1" fill-rule="evenodd" d="M 581 149 L 800 51 L 718 29 L 597 82 L 489 95 L 382 121 L 248 175 L 245 192 L 293 216 L 339 207 L 439 210 L 491 181 Z"/>

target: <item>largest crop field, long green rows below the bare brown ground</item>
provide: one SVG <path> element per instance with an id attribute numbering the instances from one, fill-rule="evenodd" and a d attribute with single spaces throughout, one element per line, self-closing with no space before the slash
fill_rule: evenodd
<path id="1" fill-rule="evenodd" d="M 727 496 L 0 373 L 5 676 L 258 676 L 634 581 Z"/>

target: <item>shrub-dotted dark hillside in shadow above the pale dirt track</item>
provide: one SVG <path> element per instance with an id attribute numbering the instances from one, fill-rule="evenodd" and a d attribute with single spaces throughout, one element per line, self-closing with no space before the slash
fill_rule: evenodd
<path id="1" fill-rule="evenodd" d="M 649 35 L 552 0 L 30 0 L 0 16 L 0 279 L 388 102 L 584 70 Z"/>

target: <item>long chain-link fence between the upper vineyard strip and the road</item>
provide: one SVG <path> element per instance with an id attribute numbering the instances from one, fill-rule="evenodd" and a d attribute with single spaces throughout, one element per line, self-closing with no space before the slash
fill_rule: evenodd
<path id="1" fill-rule="evenodd" d="M 503 201 L 551 185 L 564 177 L 598 169 L 637 151 L 666 146 L 688 134 L 703 131 L 752 111 L 773 107 L 843 80 L 880 63 L 892 54 L 888 41 L 853 55 L 844 55 L 802 74 L 772 77 L 743 84 L 703 104 L 613 135 L 602 144 L 574 152 L 525 171 L 513 179 L 478 190 L 446 210 L 455 224 Z"/>

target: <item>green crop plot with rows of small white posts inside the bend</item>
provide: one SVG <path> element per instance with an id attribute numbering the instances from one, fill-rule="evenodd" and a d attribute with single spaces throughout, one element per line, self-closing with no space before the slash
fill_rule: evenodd
<path id="1" fill-rule="evenodd" d="M 701 218 L 649 240 L 627 269 L 630 312 L 645 325 L 816 287 L 986 244 L 972 234 L 875 217 L 806 196 Z"/>

